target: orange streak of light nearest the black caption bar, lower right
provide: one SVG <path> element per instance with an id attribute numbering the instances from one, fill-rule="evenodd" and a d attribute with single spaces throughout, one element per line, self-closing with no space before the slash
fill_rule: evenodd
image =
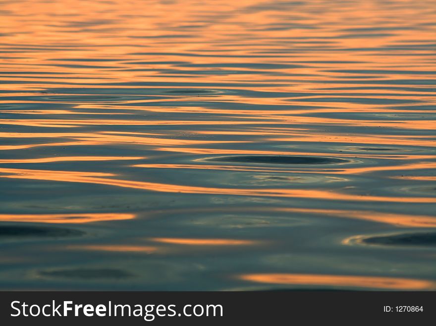
<path id="1" fill-rule="evenodd" d="M 238 276 L 238 278 L 249 282 L 282 285 L 341 286 L 390 290 L 435 289 L 435 283 L 431 281 L 397 277 L 265 273 L 244 274 Z"/>

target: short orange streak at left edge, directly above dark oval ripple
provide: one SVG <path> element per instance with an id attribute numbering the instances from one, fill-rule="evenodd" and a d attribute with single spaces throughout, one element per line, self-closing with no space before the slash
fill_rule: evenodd
<path id="1" fill-rule="evenodd" d="M 135 214 L 130 213 L 0 214 L 0 221 L 78 224 L 102 221 L 130 220 L 135 217 Z"/>

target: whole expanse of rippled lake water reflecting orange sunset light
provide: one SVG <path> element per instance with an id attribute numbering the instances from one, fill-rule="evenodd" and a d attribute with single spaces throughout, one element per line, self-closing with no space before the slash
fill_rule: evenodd
<path id="1" fill-rule="evenodd" d="M 0 289 L 436 288 L 434 0 L 0 15 Z"/>

